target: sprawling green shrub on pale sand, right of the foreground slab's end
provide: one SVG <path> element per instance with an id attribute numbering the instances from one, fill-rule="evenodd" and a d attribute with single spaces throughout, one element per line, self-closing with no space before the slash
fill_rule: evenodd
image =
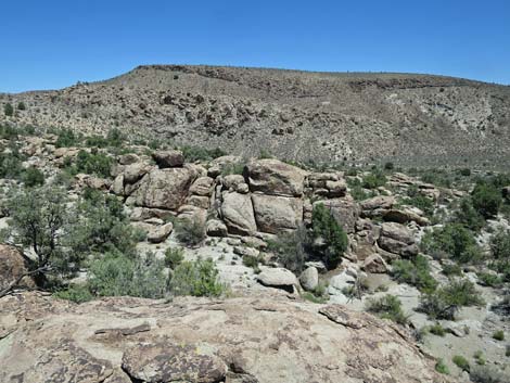
<path id="1" fill-rule="evenodd" d="M 454 320 L 463 306 L 481 306 L 484 302 L 469 280 L 450 281 L 433 293 L 422 294 L 419 310 L 431 319 Z"/>

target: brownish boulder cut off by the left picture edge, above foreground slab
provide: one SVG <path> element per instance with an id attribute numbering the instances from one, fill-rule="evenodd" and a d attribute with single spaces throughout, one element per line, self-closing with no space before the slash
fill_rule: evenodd
<path id="1" fill-rule="evenodd" d="M 28 272 L 25 259 L 16 247 L 0 244 L 0 291 L 10 286 L 20 277 Z M 35 288 L 30 277 L 24 277 L 17 286 Z"/>

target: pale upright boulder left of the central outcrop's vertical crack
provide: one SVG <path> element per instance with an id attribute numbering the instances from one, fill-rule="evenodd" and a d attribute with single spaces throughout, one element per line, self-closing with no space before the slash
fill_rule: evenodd
<path id="1" fill-rule="evenodd" d="M 257 231 L 252 199 L 237 192 L 221 193 L 221 217 L 230 233 L 252 234 Z"/>

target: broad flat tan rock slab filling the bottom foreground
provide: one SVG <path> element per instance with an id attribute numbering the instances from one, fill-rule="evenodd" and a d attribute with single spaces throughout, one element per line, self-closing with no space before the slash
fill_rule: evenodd
<path id="1" fill-rule="evenodd" d="M 403 328 L 285 297 L 0 299 L 2 382 L 447 382 Z"/>

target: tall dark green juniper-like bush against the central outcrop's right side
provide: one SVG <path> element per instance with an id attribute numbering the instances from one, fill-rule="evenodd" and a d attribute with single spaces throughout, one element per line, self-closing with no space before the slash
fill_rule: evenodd
<path id="1" fill-rule="evenodd" d="M 347 250 L 348 239 L 332 213 L 317 204 L 311 213 L 311 228 L 315 247 L 322 254 L 322 260 L 334 268 Z"/>

